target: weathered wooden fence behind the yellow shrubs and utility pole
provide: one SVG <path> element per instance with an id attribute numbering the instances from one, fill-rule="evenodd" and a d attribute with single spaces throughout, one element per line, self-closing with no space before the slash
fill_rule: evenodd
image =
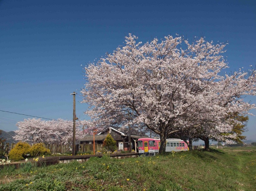
<path id="1" fill-rule="evenodd" d="M 64 144 L 43 144 L 45 148 L 48 148 L 51 153 L 66 153 L 70 152 L 72 145 Z M 15 147 L 15 143 L 6 143 L 5 144 L 5 155 L 8 155 L 10 150 Z M 87 153 L 93 151 L 93 144 L 77 144 L 77 152 Z M 102 144 L 95 144 L 95 152 L 102 149 Z"/>

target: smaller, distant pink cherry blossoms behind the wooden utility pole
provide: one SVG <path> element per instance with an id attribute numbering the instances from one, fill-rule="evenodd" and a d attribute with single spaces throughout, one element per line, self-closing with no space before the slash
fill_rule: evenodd
<path id="1" fill-rule="evenodd" d="M 73 122 L 64 119 L 44 121 L 41 119 L 24 119 L 17 124 L 15 140 L 31 143 L 71 144 Z M 76 123 L 76 140 L 82 138 L 79 123 Z"/>

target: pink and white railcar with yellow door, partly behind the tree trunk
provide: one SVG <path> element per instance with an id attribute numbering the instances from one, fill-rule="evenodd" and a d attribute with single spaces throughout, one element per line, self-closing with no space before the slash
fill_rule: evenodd
<path id="1" fill-rule="evenodd" d="M 139 155 L 155 155 L 159 152 L 160 139 L 141 138 L 138 140 Z M 166 152 L 188 151 L 187 144 L 181 139 L 166 139 Z"/>

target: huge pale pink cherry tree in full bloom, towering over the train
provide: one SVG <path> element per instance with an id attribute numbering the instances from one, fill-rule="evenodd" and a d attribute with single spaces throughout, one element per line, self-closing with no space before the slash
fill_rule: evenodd
<path id="1" fill-rule="evenodd" d="M 226 44 L 204 38 L 190 44 L 179 36 L 136 40 L 129 34 L 125 46 L 85 68 L 88 124 L 148 128 L 160 135 L 162 153 L 172 133 L 199 127 L 228 132 L 228 113 L 255 108 L 243 98 L 255 95 L 254 70 L 220 75 L 228 68 Z"/>

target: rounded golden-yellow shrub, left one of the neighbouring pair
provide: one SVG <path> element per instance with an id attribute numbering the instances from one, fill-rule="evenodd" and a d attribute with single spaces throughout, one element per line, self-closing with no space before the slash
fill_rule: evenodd
<path id="1" fill-rule="evenodd" d="M 19 142 L 11 149 L 9 157 L 12 160 L 24 160 L 27 154 L 30 153 L 31 147 L 26 142 Z"/>

